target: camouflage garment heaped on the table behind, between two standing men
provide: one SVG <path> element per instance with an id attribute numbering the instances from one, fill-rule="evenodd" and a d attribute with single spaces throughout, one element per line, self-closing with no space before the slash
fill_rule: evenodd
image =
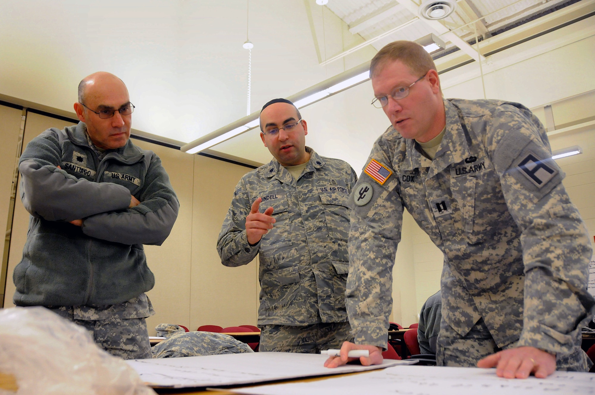
<path id="1" fill-rule="evenodd" d="M 214 332 L 186 332 L 180 325 L 159 324 L 157 336 L 166 340 L 151 348 L 153 358 L 180 358 L 184 356 L 252 353 L 246 343 L 229 335 Z"/>

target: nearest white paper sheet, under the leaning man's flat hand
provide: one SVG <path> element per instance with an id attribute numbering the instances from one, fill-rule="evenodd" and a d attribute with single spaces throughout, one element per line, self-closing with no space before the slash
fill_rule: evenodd
<path id="1" fill-rule="evenodd" d="M 595 374 L 555 372 L 548 378 L 508 379 L 496 369 L 394 366 L 383 371 L 309 383 L 228 390 L 249 395 L 593 395 Z"/>

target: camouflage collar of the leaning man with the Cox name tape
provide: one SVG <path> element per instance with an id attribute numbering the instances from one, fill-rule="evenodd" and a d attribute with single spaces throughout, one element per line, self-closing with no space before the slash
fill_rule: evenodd
<path id="1" fill-rule="evenodd" d="M 421 147 L 414 139 L 405 139 L 406 156 L 400 168 L 414 170 L 415 168 L 429 167 L 428 177 L 440 173 L 450 164 L 464 161 L 469 156 L 469 145 L 466 133 L 461 126 L 459 109 L 449 100 L 443 99 L 446 115 L 446 130 L 433 161 L 426 158 L 419 151 Z"/>

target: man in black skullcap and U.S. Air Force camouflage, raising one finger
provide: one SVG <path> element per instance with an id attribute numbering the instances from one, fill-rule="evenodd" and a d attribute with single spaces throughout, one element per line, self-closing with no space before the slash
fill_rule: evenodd
<path id="1" fill-rule="evenodd" d="M 217 241 L 221 262 L 246 265 L 259 254 L 260 351 L 338 348 L 353 339 L 345 310 L 347 200 L 357 176 L 305 146 L 308 126 L 292 102 L 265 104 L 260 126 L 274 159 L 237 184 Z"/>

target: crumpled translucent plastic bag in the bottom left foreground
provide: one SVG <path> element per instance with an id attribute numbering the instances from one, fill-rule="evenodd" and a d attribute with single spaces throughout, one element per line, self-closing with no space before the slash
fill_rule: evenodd
<path id="1" fill-rule="evenodd" d="M 15 376 L 18 395 L 155 394 L 87 330 L 43 307 L 0 311 L 0 373 Z"/>

